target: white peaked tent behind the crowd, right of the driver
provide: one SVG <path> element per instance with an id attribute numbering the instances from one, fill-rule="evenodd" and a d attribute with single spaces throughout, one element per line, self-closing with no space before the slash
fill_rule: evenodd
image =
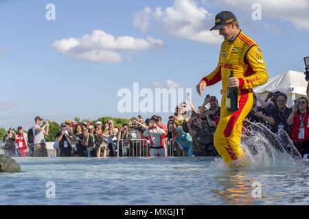
<path id="1" fill-rule="evenodd" d="M 295 70 L 288 70 L 280 75 L 268 79 L 262 86 L 253 88 L 253 91 L 262 98 L 266 98 L 269 92 L 284 92 L 288 96 L 287 105 L 292 107 L 293 101 L 301 96 L 307 96 L 308 82 L 305 80 L 304 73 Z"/>

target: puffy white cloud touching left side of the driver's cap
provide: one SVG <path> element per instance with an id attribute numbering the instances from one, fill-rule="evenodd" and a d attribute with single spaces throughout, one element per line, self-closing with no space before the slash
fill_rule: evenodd
<path id="1" fill-rule="evenodd" d="M 209 31 L 214 25 L 214 16 L 204 8 L 198 8 L 194 0 L 175 0 L 171 7 L 165 9 L 146 7 L 133 14 L 133 25 L 147 31 L 151 18 L 161 31 L 171 36 L 210 44 L 222 42 L 217 31 Z"/>

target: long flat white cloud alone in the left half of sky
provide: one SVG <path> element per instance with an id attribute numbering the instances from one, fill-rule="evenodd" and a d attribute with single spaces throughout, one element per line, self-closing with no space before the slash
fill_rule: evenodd
<path id="1" fill-rule="evenodd" d="M 62 39 L 52 44 L 52 49 L 63 55 L 90 62 L 123 62 L 121 52 L 150 51 L 165 47 L 162 40 L 152 37 L 146 40 L 131 36 L 115 38 L 100 29 L 95 29 L 91 35 L 85 34 L 82 38 Z M 128 59 L 130 57 L 126 58 Z"/>

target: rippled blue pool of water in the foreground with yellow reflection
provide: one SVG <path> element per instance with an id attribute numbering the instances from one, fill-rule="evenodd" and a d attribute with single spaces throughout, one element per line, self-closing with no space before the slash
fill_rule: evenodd
<path id="1" fill-rule="evenodd" d="M 309 204 L 309 166 L 294 162 L 236 171 L 214 157 L 15 159 L 22 172 L 0 173 L 1 205 Z"/>

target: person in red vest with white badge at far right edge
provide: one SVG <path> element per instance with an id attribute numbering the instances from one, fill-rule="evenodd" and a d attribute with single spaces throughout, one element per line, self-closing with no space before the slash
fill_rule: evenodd
<path id="1" fill-rule="evenodd" d="M 287 123 L 292 126 L 292 140 L 296 149 L 303 157 L 309 154 L 309 107 L 308 99 L 301 97 L 292 107 Z"/>

